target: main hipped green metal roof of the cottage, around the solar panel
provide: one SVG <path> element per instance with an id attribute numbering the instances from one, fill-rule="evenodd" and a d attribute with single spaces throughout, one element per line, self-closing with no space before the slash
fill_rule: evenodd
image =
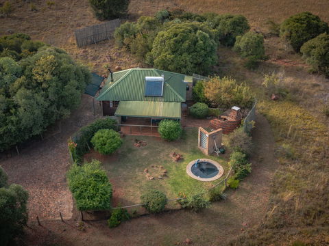
<path id="1" fill-rule="evenodd" d="M 163 96 L 145 96 L 145 77 L 160 77 L 164 75 Z M 136 100 L 159 102 L 184 102 L 186 84 L 184 74 L 167 72 L 154 68 L 131 68 L 113 73 L 106 81 L 97 100 Z"/>

